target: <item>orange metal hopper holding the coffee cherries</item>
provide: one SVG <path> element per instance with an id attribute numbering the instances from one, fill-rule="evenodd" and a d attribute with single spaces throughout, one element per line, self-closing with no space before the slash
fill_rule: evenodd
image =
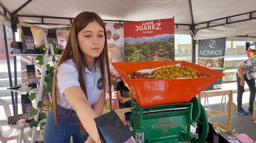
<path id="1" fill-rule="evenodd" d="M 126 73 L 160 67 L 162 65 L 191 66 L 200 72 L 213 74 L 212 77 L 194 79 L 131 79 Z M 223 73 L 186 61 L 151 61 L 112 63 L 141 107 L 185 103 L 224 76 Z"/>

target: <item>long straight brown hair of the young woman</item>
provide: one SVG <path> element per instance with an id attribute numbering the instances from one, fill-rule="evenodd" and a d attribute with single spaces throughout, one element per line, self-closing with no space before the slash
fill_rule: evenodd
<path id="1" fill-rule="evenodd" d="M 83 90 L 86 98 L 87 98 L 87 92 L 86 92 L 86 86 L 85 86 L 85 78 L 84 77 L 84 71 L 85 68 L 88 68 L 86 64 L 86 58 L 85 54 L 82 52 L 82 50 L 78 46 L 77 42 L 77 33 L 79 33 L 81 30 L 83 30 L 90 22 L 97 22 L 103 29 L 104 29 L 104 35 L 105 35 L 105 46 L 103 48 L 103 51 L 100 53 L 99 57 L 95 58 L 94 64 L 99 65 L 99 69 L 101 72 L 101 79 L 103 84 L 103 91 L 106 91 L 107 88 L 109 88 L 109 98 L 110 98 L 110 110 L 112 110 L 112 102 L 111 102 L 111 76 L 110 76 L 110 70 L 109 70 L 109 60 L 108 60 L 108 45 L 107 45 L 107 36 L 106 36 L 106 28 L 104 25 L 103 20 L 94 12 L 82 12 L 78 14 L 75 19 L 72 22 L 69 38 L 66 44 L 66 47 L 61 55 L 61 59 L 59 60 L 58 66 L 63 64 L 65 61 L 72 59 L 75 63 L 76 69 L 78 71 L 78 79 L 81 86 L 81 89 Z M 85 59 L 85 60 L 82 60 Z M 105 71 L 105 65 L 107 66 L 107 71 Z M 52 108 L 53 108 L 53 115 L 55 117 L 55 121 L 57 125 L 59 124 L 59 118 L 58 118 L 58 108 L 57 108 L 57 99 L 59 99 L 58 96 L 58 86 L 57 86 L 57 72 L 58 72 L 58 66 L 54 73 L 53 78 L 53 89 L 52 89 Z M 108 76 L 106 76 L 108 74 Z M 108 79 L 106 79 L 108 77 Z M 106 87 L 106 82 L 108 81 L 108 87 Z M 88 98 L 87 98 L 88 99 Z M 84 128 L 79 123 L 80 130 L 84 132 Z"/>

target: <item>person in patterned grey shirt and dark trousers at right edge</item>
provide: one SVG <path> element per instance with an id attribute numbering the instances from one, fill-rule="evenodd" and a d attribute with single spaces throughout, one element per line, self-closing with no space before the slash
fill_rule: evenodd
<path id="1" fill-rule="evenodd" d="M 245 60 L 239 68 L 237 68 L 236 78 L 237 78 L 237 113 L 247 115 L 248 112 L 253 112 L 253 101 L 255 100 L 255 80 L 254 73 L 256 72 L 256 57 L 249 58 Z M 249 108 L 248 112 L 244 111 L 242 108 L 242 97 L 244 93 L 245 81 L 249 86 L 250 97 L 249 97 Z"/>

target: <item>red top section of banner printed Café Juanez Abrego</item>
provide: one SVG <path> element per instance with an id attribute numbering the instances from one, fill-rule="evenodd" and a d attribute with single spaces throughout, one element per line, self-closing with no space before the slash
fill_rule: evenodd
<path id="1" fill-rule="evenodd" d="M 174 34 L 174 19 L 158 19 L 124 23 L 124 38 Z"/>

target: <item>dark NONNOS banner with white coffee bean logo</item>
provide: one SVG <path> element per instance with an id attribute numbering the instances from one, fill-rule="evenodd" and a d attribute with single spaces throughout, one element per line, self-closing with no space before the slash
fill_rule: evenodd
<path id="1" fill-rule="evenodd" d="M 226 38 L 198 40 L 198 61 L 200 66 L 223 72 Z M 206 90 L 221 89 L 222 78 Z"/>

